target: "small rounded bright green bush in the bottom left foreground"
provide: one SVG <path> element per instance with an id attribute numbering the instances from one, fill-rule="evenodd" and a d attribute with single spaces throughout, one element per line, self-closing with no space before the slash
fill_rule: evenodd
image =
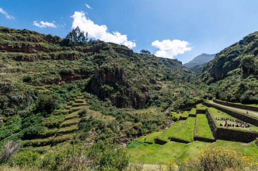
<path id="1" fill-rule="evenodd" d="M 18 166 L 36 166 L 38 159 L 40 158 L 40 154 L 33 151 L 23 151 L 18 153 L 12 160 L 14 165 Z"/>

